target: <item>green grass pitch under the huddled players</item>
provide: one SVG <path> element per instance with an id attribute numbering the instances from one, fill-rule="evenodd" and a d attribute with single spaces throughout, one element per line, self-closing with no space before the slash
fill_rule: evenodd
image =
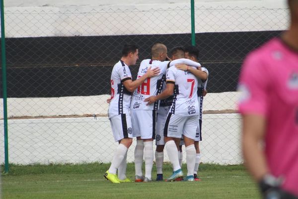
<path id="1" fill-rule="evenodd" d="M 2 167 L 2 166 L 1 166 Z M 1 176 L 2 199 L 256 199 L 255 184 L 242 165 L 201 164 L 201 182 L 112 184 L 103 174 L 109 164 L 10 165 Z M 3 170 L 3 167 L 1 168 Z M 183 165 L 186 173 L 186 165 Z M 164 164 L 164 178 L 172 173 Z M 134 178 L 134 164 L 127 176 Z M 152 177 L 156 176 L 153 167 Z"/>

